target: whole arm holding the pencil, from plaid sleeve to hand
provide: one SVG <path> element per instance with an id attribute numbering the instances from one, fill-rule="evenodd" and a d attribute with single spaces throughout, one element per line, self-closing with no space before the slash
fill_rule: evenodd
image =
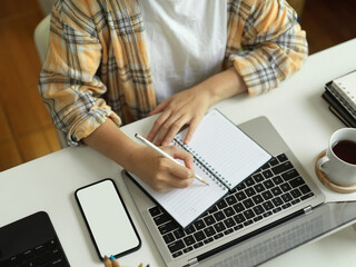
<path id="1" fill-rule="evenodd" d="M 90 8 L 86 1 L 80 9 L 68 4 L 75 3 L 57 1 L 53 8 L 50 46 L 39 80 L 39 90 L 55 125 L 68 132 L 72 144 L 82 140 L 154 189 L 187 187 L 194 178 L 188 152 L 177 147 L 164 148 L 182 159 L 188 167 L 185 168 L 138 146 L 118 128 L 120 118 L 100 98 L 106 91 L 96 76 L 101 43 L 90 19 Z M 76 13 L 71 13 L 73 10 Z"/>

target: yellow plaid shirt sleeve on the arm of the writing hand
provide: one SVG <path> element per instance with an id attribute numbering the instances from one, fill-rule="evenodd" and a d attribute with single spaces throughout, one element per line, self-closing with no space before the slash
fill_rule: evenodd
<path id="1" fill-rule="evenodd" d="M 110 117 L 120 118 L 100 98 L 107 88 L 96 75 L 101 44 L 85 1 L 56 1 L 49 50 L 39 77 L 39 91 L 57 129 L 71 146 Z"/>

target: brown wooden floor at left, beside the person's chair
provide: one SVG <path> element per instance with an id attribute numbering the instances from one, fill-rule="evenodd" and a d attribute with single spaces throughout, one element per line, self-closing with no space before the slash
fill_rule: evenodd
<path id="1" fill-rule="evenodd" d="M 36 0 L 0 0 L 0 170 L 60 149 L 37 81 Z"/>

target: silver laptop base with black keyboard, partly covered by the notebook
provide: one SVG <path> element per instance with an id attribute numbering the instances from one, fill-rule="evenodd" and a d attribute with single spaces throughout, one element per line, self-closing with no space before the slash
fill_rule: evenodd
<path id="1" fill-rule="evenodd" d="M 245 239 L 308 214 L 325 201 L 319 188 L 266 117 L 238 127 L 273 155 L 273 159 L 186 229 L 181 229 L 122 171 L 167 266 L 205 261 Z"/>

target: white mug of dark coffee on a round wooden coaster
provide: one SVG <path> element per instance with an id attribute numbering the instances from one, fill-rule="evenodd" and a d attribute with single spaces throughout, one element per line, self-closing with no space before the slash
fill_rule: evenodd
<path id="1" fill-rule="evenodd" d="M 318 160 L 317 167 L 335 185 L 348 187 L 356 185 L 356 165 L 343 160 L 333 150 L 337 142 L 345 140 L 356 142 L 355 128 L 343 128 L 333 134 L 326 155 Z"/>

